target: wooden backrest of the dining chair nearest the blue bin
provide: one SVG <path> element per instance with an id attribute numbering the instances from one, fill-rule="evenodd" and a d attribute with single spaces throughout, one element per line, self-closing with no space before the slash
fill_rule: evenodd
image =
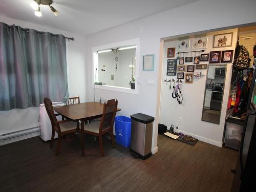
<path id="1" fill-rule="evenodd" d="M 117 110 L 117 103 L 118 101 L 115 99 L 108 100 L 107 103 L 104 103 L 99 132 L 102 132 L 105 129 L 108 129 L 109 127 L 112 127 L 113 129 L 116 110 Z"/>

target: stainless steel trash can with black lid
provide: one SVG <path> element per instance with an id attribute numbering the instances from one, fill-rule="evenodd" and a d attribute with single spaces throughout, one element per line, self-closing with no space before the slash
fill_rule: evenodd
<path id="1" fill-rule="evenodd" d="M 147 159 L 152 155 L 152 132 L 154 117 L 137 113 L 131 115 L 131 154 L 141 159 Z"/>

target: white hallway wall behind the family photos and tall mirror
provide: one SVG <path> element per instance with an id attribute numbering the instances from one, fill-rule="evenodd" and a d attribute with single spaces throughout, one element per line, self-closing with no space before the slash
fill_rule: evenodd
<path id="1" fill-rule="evenodd" d="M 213 38 L 215 34 L 233 33 L 233 42 L 231 47 L 225 48 L 212 48 Z M 207 48 L 205 48 L 204 53 L 210 53 L 211 51 L 224 51 L 224 50 L 234 50 L 236 48 L 238 29 L 230 29 L 224 31 L 211 32 L 207 34 L 198 34 L 198 37 L 207 37 Z M 196 49 L 191 49 L 193 37 L 190 37 L 190 49 L 181 50 L 182 51 L 196 51 Z M 163 59 L 163 73 L 162 80 L 172 79 L 177 80 L 177 76 L 167 76 L 167 48 L 176 47 L 177 40 L 167 41 L 164 43 L 164 59 Z M 177 49 L 177 48 L 176 48 Z M 200 50 L 200 49 L 199 49 Z M 200 53 L 192 53 L 187 56 L 200 56 Z M 177 54 L 175 55 L 177 57 Z M 186 57 L 186 54 L 181 55 L 181 57 Z M 200 64 L 208 64 L 208 61 L 200 61 Z M 193 62 L 184 62 L 185 65 L 194 65 Z M 221 63 L 220 63 L 221 64 Z M 225 63 L 223 63 L 225 64 Z M 194 65 L 195 66 L 195 65 Z M 160 123 L 167 125 L 178 126 L 180 132 L 185 134 L 193 135 L 199 140 L 205 141 L 207 143 L 215 144 L 217 146 L 222 146 L 222 136 L 224 131 L 225 116 L 227 110 L 227 100 L 229 97 L 230 80 L 232 72 L 232 63 L 227 63 L 227 73 L 225 78 L 225 90 L 223 95 L 222 110 L 220 116 L 220 124 L 214 124 L 202 121 L 202 109 L 204 103 L 204 92 L 205 92 L 205 82 L 207 70 L 196 70 L 201 71 L 204 75 L 200 79 L 194 78 L 192 84 L 183 83 L 181 86 L 181 92 L 183 96 L 182 104 L 179 104 L 176 99 L 172 97 L 173 89 L 169 90 L 169 83 L 162 83 L 161 91 L 161 108 L 160 108 Z M 222 78 L 223 81 L 223 78 Z M 184 79 L 183 79 L 184 82 Z M 215 82 L 215 81 L 212 81 Z M 217 81 L 221 82 L 221 81 Z M 172 84 L 173 85 L 173 84 Z M 179 119 L 182 118 L 182 119 Z"/>

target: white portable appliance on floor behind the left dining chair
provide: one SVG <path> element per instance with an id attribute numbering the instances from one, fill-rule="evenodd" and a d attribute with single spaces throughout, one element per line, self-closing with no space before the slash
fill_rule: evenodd
<path id="1" fill-rule="evenodd" d="M 64 105 L 63 102 L 52 102 L 53 108 L 55 106 L 62 106 Z M 54 112 L 56 114 L 56 112 Z M 57 120 L 62 120 L 61 115 L 56 116 Z M 45 104 L 40 104 L 40 110 L 39 110 L 39 127 L 40 127 L 40 138 L 44 141 L 51 140 L 52 137 L 52 124 L 50 121 L 50 118 L 47 114 Z M 55 132 L 54 138 L 57 138 L 58 134 Z"/>

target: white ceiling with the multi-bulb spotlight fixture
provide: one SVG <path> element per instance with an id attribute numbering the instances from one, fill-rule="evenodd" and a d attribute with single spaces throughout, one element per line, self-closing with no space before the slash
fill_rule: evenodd
<path id="1" fill-rule="evenodd" d="M 35 16 L 31 1 L 0 0 L 0 16 L 88 35 L 198 0 L 55 0 L 57 17 L 48 6 Z"/>

